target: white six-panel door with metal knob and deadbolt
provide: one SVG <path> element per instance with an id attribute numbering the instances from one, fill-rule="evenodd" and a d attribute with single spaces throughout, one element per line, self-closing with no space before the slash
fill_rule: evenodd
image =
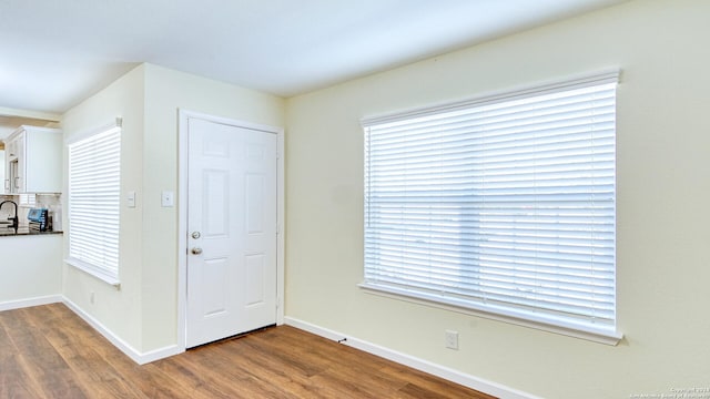
<path id="1" fill-rule="evenodd" d="M 186 347 L 276 323 L 277 135 L 187 126 Z"/>

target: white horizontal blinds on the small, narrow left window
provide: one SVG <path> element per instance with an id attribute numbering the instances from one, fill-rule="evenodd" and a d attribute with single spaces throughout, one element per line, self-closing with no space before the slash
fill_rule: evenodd
<path id="1" fill-rule="evenodd" d="M 69 145 L 69 257 L 118 278 L 121 127 Z"/>

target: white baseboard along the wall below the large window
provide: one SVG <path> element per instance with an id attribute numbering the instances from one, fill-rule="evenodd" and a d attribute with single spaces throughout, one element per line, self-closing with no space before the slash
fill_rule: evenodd
<path id="1" fill-rule="evenodd" d="M 409 356 L 403 352 L 398 352 L 396 350 L 392 350 L 372 342 L 367 342 L 362 339 L 357 339 L 354 337 L 348 337 L 337 331 L 333 331 L 327 328 L 323 328 L 303 320 L 298 320 L 293 317 L 285 317 L 285 324 L 317 336 L 334 340 L 342 341 L 343 345 L 351 346 L 353 348 L 366 351 L 368 354 L 373 354 L 379 356 L 382 358 L 396 361 L 400 365 L 405 365 L 412 367 L 413 369 L 417 369 L 419 371 L 428 372 L 430 375 L 447 379 L 449 381 L 460 383 L 465 387 L 475 389 L 480 392 L 485 392 L 488 395 L 493 395 L 498 398 L 504 399 L 539 399 L 536 396 L 505 387 L 500 383 L 496 383 L 493 381 L 487 381 L 483 378 L 469 376 L 467 374 L 460 372 L 458 370 L 454 370 L 448 367 L 444 367 L 424 359 L 416 358 L 414 356 Z"/>

